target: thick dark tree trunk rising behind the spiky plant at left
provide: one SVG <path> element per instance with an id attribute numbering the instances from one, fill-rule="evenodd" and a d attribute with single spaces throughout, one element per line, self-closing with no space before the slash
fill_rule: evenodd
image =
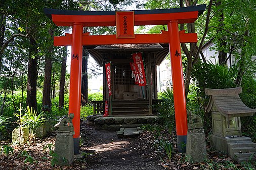
<path id="1" fill-rule="evenodd" d="M 37 110 L 36 103 L 36 80 L 37 80 L 37 45 L 34 38 L 30 37 L 27 73 L 27 105 Z"/>

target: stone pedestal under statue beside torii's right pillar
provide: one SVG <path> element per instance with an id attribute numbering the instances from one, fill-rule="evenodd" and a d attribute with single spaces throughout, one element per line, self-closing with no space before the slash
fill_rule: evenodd
<path id="1" fill-rule="evenodd" d="M 203 123 L 188 124 L 186 156 L 189 163 L 202 162 L 206 158 Z"/>

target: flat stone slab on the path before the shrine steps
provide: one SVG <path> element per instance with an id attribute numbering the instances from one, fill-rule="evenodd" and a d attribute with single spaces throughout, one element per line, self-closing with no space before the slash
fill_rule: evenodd
<path id="1" fill-rule="evenodd" d="M 118 138 L 134 138 L 139 136 L 143 133 L 143 130 L 140 127 L 136 128 L 120 128 L 119 131 L 117 131 L 117 137 Z"/>

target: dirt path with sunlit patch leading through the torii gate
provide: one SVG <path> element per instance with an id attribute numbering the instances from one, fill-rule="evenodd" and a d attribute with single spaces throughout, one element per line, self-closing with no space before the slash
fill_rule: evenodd
<path id="1" fill-rule="evenodd" d="M 139 138 L 118 139 L 116 132 L 98 131 L 93 127 L 82 126 L 84 140 L 81 149 L 89 150 L 94 155 L 87 158 L 87 168 L 93 170 L 115 169 L 163 169 L 152 156 L 149 147 Z"/>

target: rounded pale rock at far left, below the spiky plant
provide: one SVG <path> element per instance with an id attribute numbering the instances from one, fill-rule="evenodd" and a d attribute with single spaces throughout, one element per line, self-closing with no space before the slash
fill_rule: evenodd
<path id="1" fill-rule="evenodd" d="M 29 138 L 29 131 L 27 128 L 17 127 L 12 132 L 12 142 L 13 144 L 25 144 Z"/>

